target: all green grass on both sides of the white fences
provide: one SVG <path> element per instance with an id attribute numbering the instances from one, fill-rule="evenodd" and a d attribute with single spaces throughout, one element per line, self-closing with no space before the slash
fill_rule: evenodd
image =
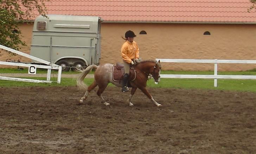
<path id="1" fill-rule="evenodd" d="M 46 73 L 46 70 L 39 69 L 37 73 Z M 27 73 L 27 69 L 18 71 L 17 69 L 0 68 L 0 73 Z M 56 73 L 56 72 L 52 72 Z M 63 72 L 64 74 L 77 74 L 79 72 Z M 94 73 L 94 72 L 91 72 Z M 162 71 L 161 74 L 213 74 L 213 71 Z M 222 75 L 256 75 L 255 71 L 240 71 L 240 72 L 218 72 Z M 30 79 L 46 80 L 46 77 L 32 77 Z M 0 80 L 0 87 L 31 87 L 31 86 L 76 86 L 76 79 L 62 78 L 61 84 L 57 84 L 57 78 L 51 78 L 55 81 L 50 84 L 46 83 L 30 83 L 18 81 Z M 84 79 L 87 85 L 93 82 L 93 79 Z M 154 84 L 151 79 L 147 82 L 148 87 L 154 88 L 184 88 L 184 89 L 218 89 L 229 91 L 250 91 L 256 92 L 256 80 L 232 80 L 218 79 L 218 87 L 213 86 L 213 79 L 161 79 L 158 85 Z M 109 84 L 109 86 L 113 86 Z"/>

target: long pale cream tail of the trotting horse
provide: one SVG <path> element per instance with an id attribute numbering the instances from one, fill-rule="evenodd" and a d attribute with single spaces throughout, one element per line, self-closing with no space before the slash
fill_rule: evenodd
<path id="1" fill-rule="evenodd" d="M 96 65 L 90 65 L 90 66 L 88 66 L 85 70 L 80 71 L 80 72 L 82 72 L 82 73 L 80 73 L 80 74 L 77 76 L 77 79 L 76 79 L 76 84 L 77 84 L 78 89 L 87 91 L 88 86 L 85 85 L 85 83 L 84 83 L 84 78 L 85 78 L 85 76 L 86 76 L 88 73 L 90 73 L 90 71 L 91 71 L 92 68 L 96 68 L 96 69 L 97 69 L 98 66 L 96 66 Z"/>

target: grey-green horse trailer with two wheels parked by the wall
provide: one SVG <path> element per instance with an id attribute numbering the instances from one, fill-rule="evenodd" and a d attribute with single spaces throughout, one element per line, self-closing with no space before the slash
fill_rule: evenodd
<path id="1" fill-rule="evenodd" d="M 34 21 L 30 54 L 62 66 L 63 71 L 98 65 L 102 21 L 97 16 L 38 16 Z"/>

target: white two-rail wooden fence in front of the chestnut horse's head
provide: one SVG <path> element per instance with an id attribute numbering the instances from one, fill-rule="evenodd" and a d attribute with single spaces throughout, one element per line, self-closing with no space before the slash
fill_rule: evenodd
<path id="1" fill-rule="evenodd" d="M 156 59 L 156 61 L 158 60 L 176 63 L 214 63 L 214 75 L 161 74 L 161 78 L 214 79 L 214 87 L 217 87 L 217 79 L 256 79 L 256 75 L 218 75 L 218 63 L 256 64 L 256 60 Z"/>

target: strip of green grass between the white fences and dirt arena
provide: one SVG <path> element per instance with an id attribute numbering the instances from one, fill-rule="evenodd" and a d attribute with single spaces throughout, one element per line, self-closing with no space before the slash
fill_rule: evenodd
<path id="1" fill-rule="evenodd" d="M 37 80 L 46 80 L 46 78 L 30 78 Z M 76 80 L 71 78 L 62 78 L 61 84 L 56 83 L 57 78 L 51 78 L 53 83 L 30 83 L 19 81 L 0 80 L 0 87 L 31 87 L 31 86 L 76 86 Z M 84 79 L 87 85 L 90 85 L 94 79 Z M 109 84 L 109 86 L 113 86 Z M 231 80 L 218 79 L 218 87 L 213 86 L 213 79 L 161 79 L 158 85 L 154 80 L 147 82 L 148 87 L 153 88 L 184 88 L 184 89 L 217 89 L 228 91 L 249 91 L 256 92 L 256 80 Z"/>

